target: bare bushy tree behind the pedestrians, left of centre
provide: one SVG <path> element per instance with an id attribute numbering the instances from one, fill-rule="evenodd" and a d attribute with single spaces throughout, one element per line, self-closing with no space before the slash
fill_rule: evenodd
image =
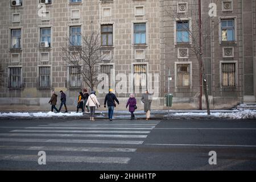
<path id="1" fill-rule="evenodd" d="M 98 74 L 100 73 L 99 64 L 102 63 L 104 55 L 101 54 L 100 33 L 80 35 L 75 40 L 67 38 L 68 46 L 62 47 L 63 60 L 71 66 L 81 68 L 82 81 L 91 90 L 98 84 Z"/>

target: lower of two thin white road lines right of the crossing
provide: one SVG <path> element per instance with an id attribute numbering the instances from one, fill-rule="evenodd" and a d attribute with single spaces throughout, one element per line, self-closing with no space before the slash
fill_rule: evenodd
<path id="1" fill-rule="evenodd" d="M 256 147 L 256 145 L 234 145 L 234 144 L 164 144 L 164 143 L 147 143 L 152 146 L 191 146 L 191 147 Z"/>

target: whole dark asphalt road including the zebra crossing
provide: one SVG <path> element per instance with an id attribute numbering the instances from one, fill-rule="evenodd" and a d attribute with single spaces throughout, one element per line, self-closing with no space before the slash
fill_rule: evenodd
<path id="1" fill-rule="evenodd" d="M 256 170 L 256 122 L 0 120 L 0 169 Z"/>

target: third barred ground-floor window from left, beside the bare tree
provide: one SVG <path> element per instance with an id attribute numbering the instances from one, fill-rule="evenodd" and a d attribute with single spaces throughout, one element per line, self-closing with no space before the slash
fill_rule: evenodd
<path id="1" fill-rule="evenodd" d="M 69 86 L 72 88 L 81 87 L 81 67 L 69 67 Z"/>

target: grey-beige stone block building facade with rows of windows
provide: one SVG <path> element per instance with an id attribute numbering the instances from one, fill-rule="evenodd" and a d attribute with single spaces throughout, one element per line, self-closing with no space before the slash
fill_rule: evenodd
<path id="1" fill-rule="evenodd" d="M 169 68 L 170 92 L 174 95 L 172 108 L 198 109 L 199 64 L 191 52 L 186 31 L 179 26 L 179 20 L 189 27 L 196 25 L 196 2 L 1 1 L 0 60 L 4 73 L 1 109 L 47 110 L 53 90 L 63 90 L 68 96 L 68 107 L 75 109 L 78 93 L 86 85 L 79 82 L 79 70 L 61 58 L 61 47 L 68 44 L 68 37 L 79 41 L 81 34 L 92 31 L 100 31 L 104 38 L 101 51 L 106 59 L 101 70 L 110 75 L 112 88 L 119 86 L 120 74 L 127 75 L 127 86 L 122 85 L 127 87 L 126 92 L 116 92 L 122 103 L 117 109 L 125 109 L 129 93 L 137 87 L 139 92 L 135 96 L 139 98 L 150 87 L 150 80 L 151 91 L 156 93 L 152 108 L 166 109 L 164 95 L 168 93 Z M 216 5 L 215 16 L 208 14 L 210 3 Z M 211 109 L 255 102 L 255 3 L 254 0 L 202 1 L 203 30 L 210 32 L 203 35 L 203 60 Z M 176 13 L 170 14 L 172 7 Z M 129 75 L 135 74 L 141 77 L 129 80 Z M 145 78 L 144 74 L 152 77 Z M 98 92 L 102 104 L 104 96 Z M 142 106 L 138 99 L 139 109 Z"/>

